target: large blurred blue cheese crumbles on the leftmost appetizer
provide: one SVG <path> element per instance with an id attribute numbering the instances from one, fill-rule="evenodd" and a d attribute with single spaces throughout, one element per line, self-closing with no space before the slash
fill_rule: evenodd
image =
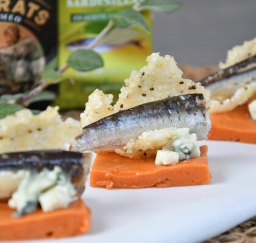
<path id="1" fill-rule="evenodd" d="M 38 203 L 43 211 L 65 208 L 76 200 L 76 190 L 69 177 L 59 166 L 40 173 L 26 171 L 23 180 L 9 199 L 9 207 L 16 209 L 16 216 L 35 211 Z"/>

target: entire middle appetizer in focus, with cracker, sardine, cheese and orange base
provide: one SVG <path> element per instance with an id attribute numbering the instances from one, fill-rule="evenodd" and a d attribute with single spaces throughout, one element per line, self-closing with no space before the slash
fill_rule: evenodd
<path id="1" fill-rule="evenodd" d="M 83 114 L 74 151 L 96 151 L 92 187 L 145 188 L 210 182 L 207 139 L 209 92 L 191 80 L 173 57 L 153 53 L 133 71 L 119 100 L 96 90 Z"/>

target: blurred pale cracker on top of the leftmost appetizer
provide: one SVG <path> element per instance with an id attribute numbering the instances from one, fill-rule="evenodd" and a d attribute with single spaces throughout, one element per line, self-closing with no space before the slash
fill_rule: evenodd
<path id="1" fill-rule="evenodd" d="M 68 149 L 82 132 L 79 121 L 62 120 L 58 107 L 38 115 L 23 109 L 0 120 L 0 153 L 36 149 Z"/>

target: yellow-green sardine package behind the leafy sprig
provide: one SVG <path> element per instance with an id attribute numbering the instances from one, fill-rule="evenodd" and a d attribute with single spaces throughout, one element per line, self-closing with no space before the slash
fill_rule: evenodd
<path id="1" fill-rule="evenodd" d="M 117 11 L 132 7 L 135 0 L 63 0 L 59 1 L 59 68 L 65 66 L 68 56 L 77 49 L 87 49 L 95 36 L 107 26 Z M 143 15 L 152 28 L 151 12 Z M 116 97 L 124 79 L 132 70 L 145 64 L 151 53 L 152 39 L 140 27 L 115 29 L 108 33 L 93 50 L 104 60 L 104 67 L 90 72 L 69 68 L 64 75 L 74 82 L 63 81 L 55 104 L 62 109 L 84 108 L 88 95 L 102 89 Z"/>

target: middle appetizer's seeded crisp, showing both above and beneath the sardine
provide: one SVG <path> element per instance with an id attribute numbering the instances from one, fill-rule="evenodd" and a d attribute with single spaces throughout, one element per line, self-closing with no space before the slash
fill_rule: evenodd
<path id="1" fill-rule="evenodd" d="M 130 77 L 124 81 L 116 104 L 112 105 L 113 95 L 104 94 L 96 89 L 85 104 L 85 111 L 80 115 L 82 127 L 140 104 L 183 94 L 203 94 L 208 106 L 210 92 L 200 83 L 182 78 L 183 72 L 177 67 L 172 56 L 152 53 L 148 56 L 147 62 L 148 64 L 140 70 L 133 70 Z M 157 150 L 165 146 L 173 137 L 175 129 L 146 132 L 130 140 L 123 148 L 116 149 L 115 152 L 130 158 L 144 156 L 145 152 L 147 156 L 156 154 Z"/>

